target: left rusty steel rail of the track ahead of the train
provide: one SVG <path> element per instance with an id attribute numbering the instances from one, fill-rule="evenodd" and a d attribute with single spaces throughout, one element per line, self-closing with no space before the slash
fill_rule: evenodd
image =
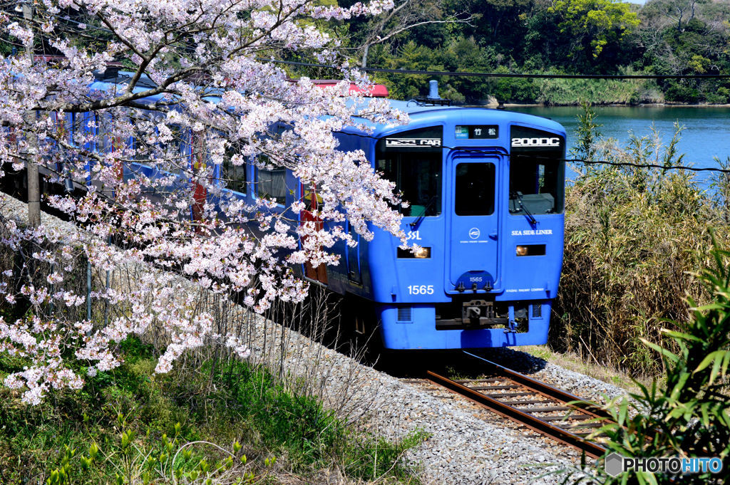
<path id="1" fill-rule="evenodd" d="M 493 397 L 484 395 L 481 392 L 470 389 L 469 387 L 466 387 L 463 384 L 459 384 L 458 382 L 448 379 L 447 377 L 440 376 L 437 373 L 431 372 L 431 370 L 426 371 L 426 374 L 428 379 L 434 382 L 434 384 L 438 384 L 439 386 L 445 387 L 452 392 L 456 392 L 457 394 L 462 395 L 469 400 L 472 400 L 480 406 L 488 408 L 489 410 L 495 412 L 496 414 L 499 414 L 500 416 L 504 416 L 507 419 L 512 419 L 512 421 L 523 424 L 526 427 L 529 427 L 531 430 L 539 432 L 542 435 L 548 435 L 550 436 L 550 438 L 553 438 L 557 441 L 560 441 L 561 443 L 565 443 L 568 446 L 572 446 L 575 449 L 583 451 L 586 455 L 590 457 L 600 458 L 606 452 L 606 449 L 598 443 L 588 441 L 585 438 L 580 437 L 579 435 L 564 430 L 561 427 L 557 427 L 554 424 L 550 424 L 547 421 L 543 421 L 537 416 L 526 413 L 525 411 L 515 408 L 514 406 L 504 404 L 499 400 L 494 399 Z"/>

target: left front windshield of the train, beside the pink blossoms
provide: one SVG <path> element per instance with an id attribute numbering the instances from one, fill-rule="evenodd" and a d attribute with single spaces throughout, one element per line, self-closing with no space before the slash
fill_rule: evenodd
<path id="1" fill-rule="evenodd" d="M 442 128 L 397 133 L 377 144 L 375 169 L 396 183 L 410 206 L 401 207 L 405 216 L 441 214 Z"/>

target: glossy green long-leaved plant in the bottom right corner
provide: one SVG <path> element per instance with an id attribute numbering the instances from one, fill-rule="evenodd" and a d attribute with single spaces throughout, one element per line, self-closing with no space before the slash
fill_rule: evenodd
<path id="1" fill-rule="evenodd" d="M 624 457 L 718 457 L 719 474 L 631 472 L 607 478 L 606 484 L 723 484 L 730 466 L 730 414 L 727 407 L 730 365 L 730 252 L 715 248 L 710 268 L 699 280 L 712 295 L 711 303 L 697 306 L 682 331 L 663 330 L 675 352 L 644 343 L 661 355 L 666 381 L 638 384 L 634 402 L 623 398 L 606 408 L 616 424 L 602 428 L 607 446 Z M 637 411 L 637 412 L 629 412 Z"/>

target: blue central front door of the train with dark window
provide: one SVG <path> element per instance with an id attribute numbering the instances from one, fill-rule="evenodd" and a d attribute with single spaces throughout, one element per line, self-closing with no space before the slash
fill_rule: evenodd
<path id="1" fill-rule="evenodd" d="M 447 159 L 447 290 L 491 290 L 498 279 L 499 155 L 451 152 Z"/>

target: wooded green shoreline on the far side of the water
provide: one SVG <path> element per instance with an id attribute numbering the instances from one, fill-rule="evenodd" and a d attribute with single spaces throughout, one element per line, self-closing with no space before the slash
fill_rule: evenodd
<path id="1" fill-rule="evenodd" d="M 404 1 L 407 3 L 407 1 Z M 433 1 L 421 0 L 423 4 Z M 435 2 L 438 3 L 438 2 Z M 726 0 L 443 0 L 443 15 L 468 23 L 427 24 L 369 48 L 368 66 L 445 71 L 567 74 L 721 74 L 730 71 Z M 393 19 L 391 23 L 397 24 Z M 350 24 L 362 42 L 364 21 Z M 381 28 L 387 31 L 387 28 Z M 394 96 L 425 94 L 426 78 L 383 74 Z M 480 104 L 657 101 L 728 103 L 730 80 L 585 82 L 442 77 L 442 96 Z"/>

